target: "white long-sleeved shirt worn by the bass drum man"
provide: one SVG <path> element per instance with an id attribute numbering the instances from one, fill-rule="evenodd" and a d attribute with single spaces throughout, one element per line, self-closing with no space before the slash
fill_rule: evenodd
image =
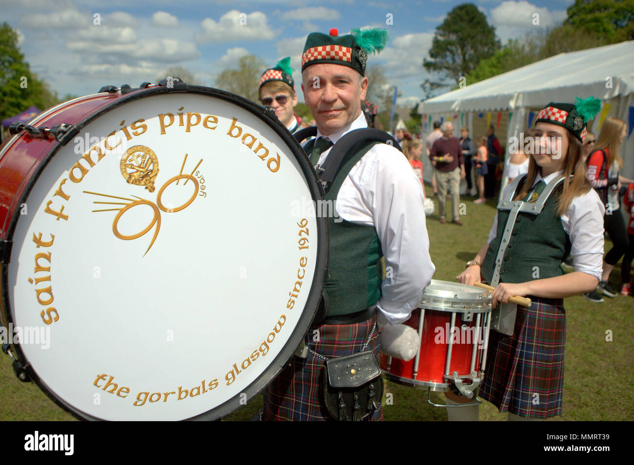
<path id="1" fill-rule="evenodd" d="M 367 127 L 363 112 L 339 132 L 336 143 L 351 130 Z M 317 131 L 317 139 L 323 136 Z M 323 164 L 330 149 L 321 154 Z M 377 302 L 380 325 L 396 325 L 420 306 L 423 290 L 436 267 L 429 256 L 429 237 L 423 209 L 424 194 L 410 162 L 398 149 L 377 144 L 354 165 L 342 183 L 335 208 L 346 221 L 373 226 L 387 270 Z"/>

